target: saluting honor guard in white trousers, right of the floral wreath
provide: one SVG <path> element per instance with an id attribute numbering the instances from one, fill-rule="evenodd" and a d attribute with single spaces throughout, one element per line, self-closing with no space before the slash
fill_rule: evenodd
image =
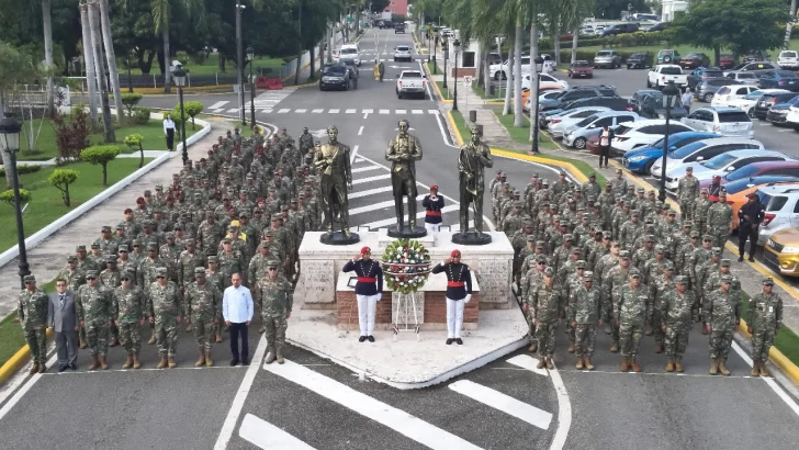
<path id="1" fill-rule="evenodd" d="M 463 307 L 472 300 L 472 275 L 469 266 L 461 263 L 461 250 L 432 268 L 432 273 L 447 273 L 447 345 L 462 345 Z"/>

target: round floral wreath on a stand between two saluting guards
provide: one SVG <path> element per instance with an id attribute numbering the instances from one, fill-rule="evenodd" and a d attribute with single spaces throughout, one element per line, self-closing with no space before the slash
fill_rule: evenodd
<path id="1" fill-rule="evenodd" d="M 430 251 L 418 240 L 396 239 L 383 254 L 383 278 L 392 291 L 418 292 L 430 273 Z"/>

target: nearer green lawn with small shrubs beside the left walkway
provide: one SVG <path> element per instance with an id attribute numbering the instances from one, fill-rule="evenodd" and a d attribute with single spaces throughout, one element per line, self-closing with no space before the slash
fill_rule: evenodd
<path id="1" fill-rule="evenodd" d="M 151 160 L 153 158 L 144 158 L 145 164 Z M 69 187 L 71 209 L 79 206 L 106 188 L 102 185 L 102 167 L 100 166 L 78 162 L 64 166 L 64 168 L 80 172 L 78 180 Z M 61 192 L 47 181 L 47 177 L 55 169 L 56 167 L 47 167 L 34 173 L 20 176 L 22 188 L 31 191 L 33 196 L 23 215 L 25 237 L 33 235 L 71 210 L 64 205 Z M 138 158 L 117 158 L 111 161 L 109 164 L 109 185 L 136 170 L 138 170 Z M 0 182 L 4 184 L 5 179 Z M 113 222 L 115 224 L 119 218 L 110 217 L 109 221 L 115 221 Z M 109 222 L 109 225 L 112 225 L 112 222 Z M 0 204 L 0 249 L 2 249 L 0 251 L 5 251 L 14 245 L 16 245 L 16 218 L 13 209 L 7 203 L 2 203 Z"/>

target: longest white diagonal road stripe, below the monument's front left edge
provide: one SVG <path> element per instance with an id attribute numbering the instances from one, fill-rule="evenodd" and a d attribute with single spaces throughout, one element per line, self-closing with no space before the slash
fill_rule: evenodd
<path id="1" fill-rule="evenodd" d="M 394 218 L 392 218 L 394 222 Z M 282 376 L 308 391 L 338 403 L 355 413 L 384 425 L 409 439 L 431 449 L 477 450 L 476 447 L 458 436 L 442 430 L 418 417 L 391 405 L 380 402 L 369 395 L 362 394 L 342 383 L 329 379 L 311 369 L 292 361 L 285 364 L 263 365 L 263 369 L 278 376 Z"/>

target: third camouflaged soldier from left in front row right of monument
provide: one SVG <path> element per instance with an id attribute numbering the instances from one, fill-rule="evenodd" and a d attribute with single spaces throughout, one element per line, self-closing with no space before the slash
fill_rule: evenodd
<path id="1" fill-rule="evenodd" d="M 629 284 L 619 288 L 617 301 L 614 301 L 614 318 L 619 326 L 619 344 L 621 352 L 621 367 L 619 370 L 640 372 L 641 367 L 635 360 L 638 349 L 643 336 L 646 322 L 646 304 L 649 292 L 641 283 L 641 272 L 630 270 Z"/>

